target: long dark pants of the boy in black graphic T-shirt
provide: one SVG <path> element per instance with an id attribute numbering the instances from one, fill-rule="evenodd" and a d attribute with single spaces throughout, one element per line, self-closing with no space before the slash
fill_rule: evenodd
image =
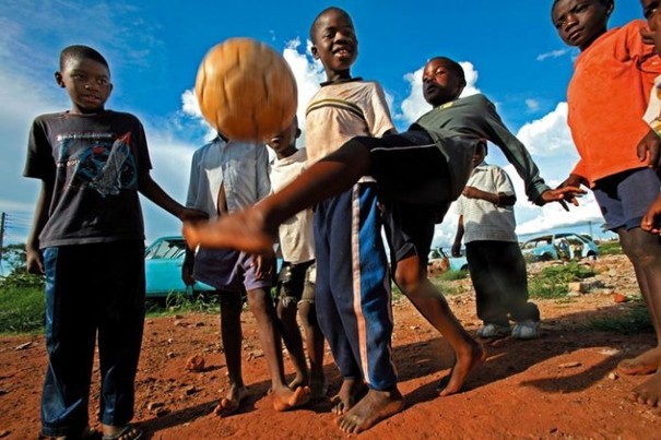
<path id="1" fill-rule="evenodd" d="M 48 368 L 42 433 L 76 436 L 87 426 L 97 333 L 99 419 L 128 424 L 144 323 L 143 242 L 48 248 L 44 263 Z"/>

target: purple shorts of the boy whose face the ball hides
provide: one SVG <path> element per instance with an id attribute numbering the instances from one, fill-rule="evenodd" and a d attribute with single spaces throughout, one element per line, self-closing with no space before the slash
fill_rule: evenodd
<path id="1" fill-rule="evenodd" d="M 196 254 L 193 278 L 206 283 L 219 290 L 244 292 L 270 288 L 273 271 L 257 277 L 255 257 L 234 249 L 203 249 Z"/>

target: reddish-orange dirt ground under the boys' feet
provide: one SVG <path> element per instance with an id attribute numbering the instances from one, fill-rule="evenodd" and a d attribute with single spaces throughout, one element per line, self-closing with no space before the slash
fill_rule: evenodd
<path id="1" fill-rule="evenodd" d="M 400 414 L 361 435 L 366 439 L 425 438 L 661 438 L 658 409 L 627 399 L 645 377 L 615 372 L 624 357 L 653 346 L 654 335 L 619 335 L 586 325 L 599 318 L 626 316 L 632 302 L 615 302 L 614 293 L 636 295 L 635 280 L 622 257 L 606 257 L 595 267 L 605 287 L 569 300 L 539 300 L 542 337 L 486 343 L 488 360 L 468 380 L 462 393 L 437 397 L 436 385 L 449 372 L 448 344 L 406 299 L 394 304 L 393 356 L 406 406 Z M 533 272 L 533 270 L 531 270 Z M 475 317 L 470 283 L 448 297 L 469 331 Z M 219 343 L 219 319 L 212 314 L 150 318 L 137 381 L 135 423 L 152 439 L 339 439 L 328 401 L 290 413 L 276 413 L 268 395 L 269 377 L 250 312 L 244 313 L 244 377 L 251 396 L 238 414 L 212 413 L 224 395 L 225 361 Z M 29 343 L 29 344 L 28 344 Z M 200 355 L 200 372 L 186 369 Z M 286 360 L 286 358 L 285 358 Z M 327 355 L 331 381 L 340 378 Z M 34 439 L 46 365 L 42 336 L 0 338 L 0 438 Z M 291 365 L 287 371 L 291 372 Z M 95 380 L 97 381 L 97 370 Z M 92 390 L 91 419 L 97 411 L 98 385 Z"/>

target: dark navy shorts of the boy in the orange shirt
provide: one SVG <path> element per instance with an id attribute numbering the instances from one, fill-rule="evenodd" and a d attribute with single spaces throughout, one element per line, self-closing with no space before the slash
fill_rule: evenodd
<path id="1" fill-rule="evenodd" d="M 640 227 L 647 209 L 659 195 L 661 181 L 651 168 L 637 168 L 599 179 L 592 191 L 606 221 L 615 231 Z"/>

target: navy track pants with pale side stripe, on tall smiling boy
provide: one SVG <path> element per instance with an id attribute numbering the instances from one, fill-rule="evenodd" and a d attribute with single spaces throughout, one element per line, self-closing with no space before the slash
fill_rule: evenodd
<path id="1" fill-rule="evenodd" d="M 388 260 L 374 185 L 321 202 L 315 212 L 317 321 L 344 379 L 397 385 L 391 357 Z"/>

